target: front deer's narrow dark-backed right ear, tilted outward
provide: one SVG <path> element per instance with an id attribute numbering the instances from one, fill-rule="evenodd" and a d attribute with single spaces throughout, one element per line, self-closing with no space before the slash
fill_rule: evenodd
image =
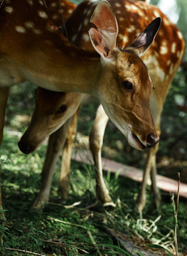
<path id="1" fill-rule="evenodd" d="M 149 26 L 128 46 L 125 50 L 135 50 L 135 53 L 141 57 L 149 49 L 154 41 L 156 33 L 159 31 L 161 18 L 155 18 Z"/>

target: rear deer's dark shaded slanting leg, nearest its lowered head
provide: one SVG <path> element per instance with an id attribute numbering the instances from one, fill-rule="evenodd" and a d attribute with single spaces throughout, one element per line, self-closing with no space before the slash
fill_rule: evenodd
<path id="1" fill-rule="evenodd" d="M 43 165 L 43 182 L 36 201 L 33 203 L 33 209 L 38 209 L 45 203 L 48 203 L 50 186 L 52 183 L 56 162 L 58 161 L 60 151 L 63 149 L 70 121 L 71 117 L 70 119 L 68 119 L 67 122 L 65 122 L 65 124 L 63 124 L 62 127 L 60 127 L 60 129 L 50 135 L 46 154 L 46 161 Z"/>

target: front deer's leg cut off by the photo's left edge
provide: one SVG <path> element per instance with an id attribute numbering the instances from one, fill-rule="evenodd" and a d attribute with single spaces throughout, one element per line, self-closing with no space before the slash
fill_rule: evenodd
<path id="1" fill-rule="evenodd" d="M 10 87 L 0 87 L 0 146 L 4 134 L 4 122 L 5 122 L 5 112 L 6 103 L 9 97 Z M 0 166 L 0 210 L 3 209 L 2 199 L 1 199 L 1 166 Z"/>

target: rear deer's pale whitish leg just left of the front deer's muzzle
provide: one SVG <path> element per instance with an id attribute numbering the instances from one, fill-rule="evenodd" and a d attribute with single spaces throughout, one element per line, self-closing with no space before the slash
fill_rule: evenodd
<path id="1" fill-rule="evenodd" d="M 107 190 L 105 180 L 102 175 L 102 158 L 101 158 L 101 149 L 103 137 L 105 134 L 105 128 L 108 122 L 108 117 L 105 114 L 105 111 L 102 108 L 102 105 L 98 107 L 97 114 L 95 117 L 95 122 L 90 133 L 90 151 L 95 163 L 95 172 L 96 172 L 96 194 L 97 198 L 102 203 L 111 202 L 109 196 L 109 191 Z"/>

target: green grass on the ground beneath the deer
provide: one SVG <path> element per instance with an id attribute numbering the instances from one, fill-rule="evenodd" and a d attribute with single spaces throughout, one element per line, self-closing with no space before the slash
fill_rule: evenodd
<path id="1" fill-rule="evenodd" d="M 135 235 L 146 243 L 173 246 L 174 213 L 171 197 L 161 203 L 157 213 L 148 189 L 148 203 L 141 219 L 135 210 L 139 185 L 118 175 L 107 175 L 107 186 L 116 203 L 103 208 L 95 203 L 95 174 L 92 166 L 73 162 L 70 173 L 70 194 L 67 201 L 56 203 L 58 172 L 53 179 L 50 203 L 44 210 L 33 212 L 32 203 L 41 182 L 41 168 L 46 146 L 31 155 L 17 148 L 18 137 L 5 133 L 1 156 L 1 182 L 6 220 L 1 220 L 1 253 L 28 255 L 132 255 L 114 239 L 109 229 Z M 9 143 L 7 143 L 9 142 Z M 58 171 L 60 162 L 58 162 Z M 73 206 L 79 202 L 78 206 Z M 184 250 L 187 240 L 186 203 L 180 202 L 178 212 L 178 247 Z M 149 242 L 147 242 L 149 241 Z M 10 249 L 15 249 L 12 251 Z M 18 251 L 18 250 L 21 250 Z M 147 249 L 148 250 L 148 249 Z M 141 255 L 134 250 L 133 255 Z"/>

